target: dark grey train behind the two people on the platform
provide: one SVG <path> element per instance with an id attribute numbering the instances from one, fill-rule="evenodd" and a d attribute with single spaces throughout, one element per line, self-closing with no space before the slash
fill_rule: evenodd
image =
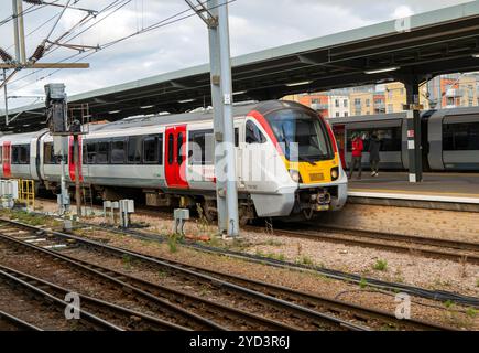
<path id="1" fill-rule="evenodd" d="M 422 113 L 423 169 L 425 171 L 479 171 L 479 107 Z M 342 164 L 351 160 L 351 137 L 364 138 L 362 163 L 369 165 L 369 136 L 381 140 L 380 169 L 407 170 L 405 113 L 330 118 Z"/>

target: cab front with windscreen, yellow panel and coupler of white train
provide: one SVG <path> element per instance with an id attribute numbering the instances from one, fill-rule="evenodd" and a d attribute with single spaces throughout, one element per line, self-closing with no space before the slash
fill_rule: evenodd
<path id="1" fill-rule="evenodd" d="M 340 210 L 348 179 L 329 125 L 304 106 L 265 115 L 290 178 L 296 183 L 292 215 Z"/>

